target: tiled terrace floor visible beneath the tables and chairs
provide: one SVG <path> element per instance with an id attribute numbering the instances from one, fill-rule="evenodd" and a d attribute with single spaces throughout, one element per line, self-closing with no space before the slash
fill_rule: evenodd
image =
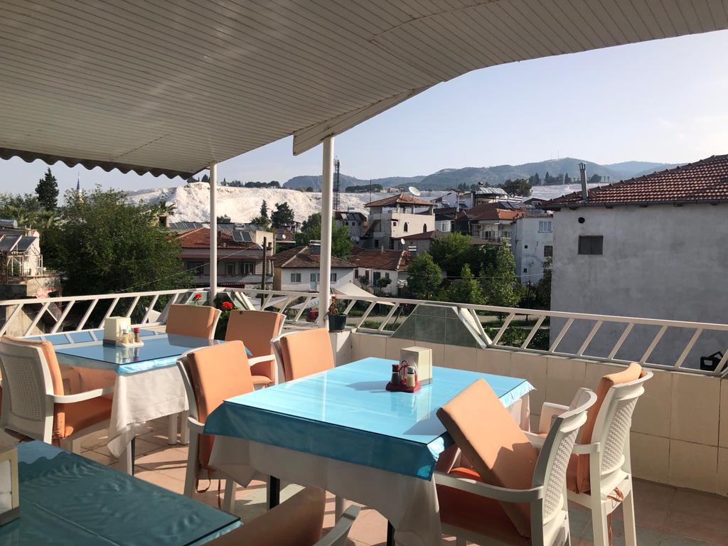
<path id="1" fill-rule="evenodd" d="M 137 438 L 136 476 L 181 494 L 187 447 L 167 445 L 166 419 L 151 422 L 148 427 Z M 82 455 L 111 467 L 118 465 L 109 455 L 101 432 L 84 439 Z M 296 486 L 288 486 L 282 491 L 282 497 L 285 499 L 296 490 Z M 727 498 L 641 480 L 636 481 L 635 491 L 639 546 L 728 545 Z M 211 484 L 209 491 L 195 496 L 217 507 L 217 482 Z M 264 511 L 265 499 L 264 483 L 253 483 L 245 490 L 239 487 L 234 511 L 243 521 L 250 520 Z M 333 496 L 326 508 L 324 524 L 330 528 L 334 517 Z M 590 515 L 586 510 L 571 510 L 571 536 L 572 546 L 593 544 Z M 386 537 L 387 522 L 376 511 L 364 507 L 349 534 L 349 544 L 384 545 Z M 618 511 L 614 516 L 614 545 L 623 544 L 622 514 Z M 443 545 L 454 545 L 454 539 L 443 539 Z"/>

